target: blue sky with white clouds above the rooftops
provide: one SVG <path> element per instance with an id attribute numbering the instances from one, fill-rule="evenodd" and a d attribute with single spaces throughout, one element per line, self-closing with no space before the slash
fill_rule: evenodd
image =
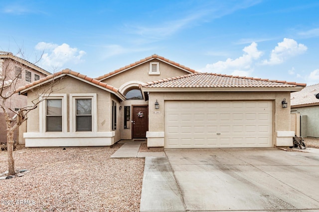
<path id="1" fill-rule="evenodd" d="M 318 0 L 10 0 L 0 51 L 97 77 L 152 54 L 202 72 L 319 83 Z"/>

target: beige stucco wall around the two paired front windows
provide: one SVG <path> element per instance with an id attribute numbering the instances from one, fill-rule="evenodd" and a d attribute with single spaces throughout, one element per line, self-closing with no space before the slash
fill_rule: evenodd
<path id="1" fill-rule="evenodd" d="M 48 86 L 48 85 L 47 85 Z M 90 85 L 88 83 L 77 80 L 73 77 L 66 76 L 53 89 L 56 91 L 54 95 L 66 95 L 66 100 L 63 102 L 67 105 L 66 112 L 63 115 L 67 118 L 66 132 L 41 132 L 41 120 L 45 122 L 45 115 L 41 112 L 41 107 L 37 107 L 28 115 L 26 146 L 90 146 L 90 145 L 112 145 L 114 142 L 121 139 L 121 128 L 117 127 L 112 131 L 112 100 L 117 104 L 117 125 L 121 126 L 121 113 L 119 107 L 121 102 L 114 94 Z M 43 90 L 43 89 L 42 89 Z M 70 127 L 73 115 L 70 114 L 70 98 L 76 94 L 94 94 L 96 95 L 96 117 L 92 108 L 92 119 L 97 120 L 97 129 L 92 129 L 92 132 L 73 132 Z M 36 95 L 28 92 L 28 104 L 35 99 Z M 41 104 L 41 103 L 40 103 Z M 41 113 L 41 115 L 40 115 Z M 92 125 L 94 126 L 94 123 Z M 64 139 L 64 141 L 62 141 Z M 50 141 L 52 140 L 52 141 Z M 60 141 L 61 140 L 61 141 Z"/>

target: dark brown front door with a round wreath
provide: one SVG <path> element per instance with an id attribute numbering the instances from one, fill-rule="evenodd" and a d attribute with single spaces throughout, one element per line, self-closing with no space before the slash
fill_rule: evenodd
<path id="1" fill-rule="evenodd" d="M 149 109 L 148 106 L 133 106 L 133 139 L 146 138 L 146 132 L 149 130 Z"/>

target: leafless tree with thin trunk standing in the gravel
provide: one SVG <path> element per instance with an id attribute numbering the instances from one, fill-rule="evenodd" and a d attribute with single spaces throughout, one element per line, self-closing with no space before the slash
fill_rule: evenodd
<path id="1" fill-rule="evenodd" d="M 37 97 L 31 101 L 30 105 L 24 105 L 18 110 L 11 108 L 11 105 L 8 104 L 8 102 L 10 102 L 12 98 L 25 98 L 24 96 L 19 97 L 18 95 L 20 93 L 16 93 L 17 88 L 23 86 L 20 82 L 20 78 L 21 72 L 26 69 L 26 66 L 21 63 L 22 61 L 24 60 L 10 60 L 7 63 L 2 63 L 2 67 L 0 67 L 0 108 L 3 111 L 6 123 L 8 175 L 15 175 L 13 159 L 14 131 L 27 120 L 27 114 L 35 109 L 41 101 L 44 101 L 53 92 L 53 86 L 57 82 L 57 80 L 54 80 L 54 77 L 47 77 L 50 85 L 43 86 L 42 89 L 32 90 L 37 94 Z M 41 90 L 41 93 L 39 90 Z M 10 114 L 12 113 L 15 115 L 10 117 Z"/>

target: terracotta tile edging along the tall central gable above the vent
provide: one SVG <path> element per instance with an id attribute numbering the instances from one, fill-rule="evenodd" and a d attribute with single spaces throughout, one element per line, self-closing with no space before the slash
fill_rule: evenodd
<path id="1" fill-rule="evenodd" d="M 180 64 L 178 64 L 178 63 L 175 63 L 174 61 L 170 61 L 170 60 L 168 60 L 168 59 L 166 59 L 166 58 L 164 58 L 164 57 L 161 57 L 161 56 L 159 56 L 159 55 L 154 54 L 154 55 L 152 55 L 152 56 L 150 56 L 150 57 L 147 57 L 147 58 L 145 58 L 145 59 L 142 59 L 142 60 L 140 60 L 140 61 L 137 61 L 137 62 L 135 62 L 135 63 L 133 63 L 133 64 L 128 65 L 128 66 L 122 67 L 122 68 L 117 69 L 117 70 L 115 70 L 115 71 L 112 71 L 112 72 L 110 72 L 110 73 L 107 73 L 107 74 L 104 74 L 104 75 L 102 75 L 102 76 L 96 77 L 95 79 L 97 79 L 97 80 L 104 80 L 104 79 L 106 79 L 106 78 L 108 78 L 108 77 L 110 77 L 110 76 L 116 75 L 116 74 L 121 73 L 121 72 L 123 72 L 123 71 L 127 71 L 127 70 L 129 70 L 129 69 L 132 69 L 132 68 L 134 68 L 134 67 L 136 67 L 136 66 L 139 66 L 139 65 L 141 65 L 141 64 L 147 63 L 147 62 L 149 62 L 149 61 L 151 61 L 151 60 L 155 60 L 155 59 L 160 60 L 160 61 L 162 61 L 162 62 L 164 62 L 164 63 L 169 64 L 169 65 L 172 65 L 172 66 L 174 66 L 174 67 L 176 67 L 176 68 L 179 68 L 179 69 L 181 69 L 181 70 L 183 70 L 183 71 L 186 71 L 186 72 L 188 72 L 188 73 L 195 73 L 195 72 L 196 72 L 195 70 L 192 70 L 192 69 L 190 69 L 190 68 L 188 68 L 188 67 L 182 66 L 182 65 L 180 65 Z"/>

